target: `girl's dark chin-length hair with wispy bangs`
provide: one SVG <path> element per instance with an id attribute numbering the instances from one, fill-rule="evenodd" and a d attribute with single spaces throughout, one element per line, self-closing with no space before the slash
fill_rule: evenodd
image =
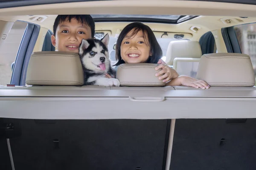
<path id="1" fill-rule="evenodd" d="M 135 23 L 130 23 L 127 26 L 125 26 L 125 28 L 119 34 L 117 41 L 116 41 L 116 60 L 117 60 L 117 62 L 113 66 L 125 63 L 124 60 L 122 60 L 122 58 L 121 58 L 121 43 L 122 43 L 122 40 L 125 38 L 125 36 L 132 29 L 134 29 L 134 30 L 130 37 L 135 36 L 140 30 L 143 32 L 144 40 L 145 40 L 146 36 L 148 36 L 148 42 L 146 42 L 146 43 L 147 43 L 147 45 L 150 46 L 150 53 L 152 54 L 152 56 L 148 57 L 148 60 L 146 61 L 146 63 L 157 63 L 158 60 L 162 57 L 163 51 L 162 51 L 159 43 L 157 42 L 157 39 L 154 36 L 153 31 L 151 30 L 151 28 L 149 28 L 149 26 L 146 26 L 143 23 L 135 22 Z"/>

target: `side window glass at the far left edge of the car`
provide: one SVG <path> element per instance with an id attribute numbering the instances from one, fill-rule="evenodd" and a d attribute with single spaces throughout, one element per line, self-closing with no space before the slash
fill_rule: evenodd
<path id="1" fill-rule="evenodd" d="M 27 23 L 16 21 L 9 34 L 1 37 L 3 43 L 0 45 L 0 85 L 6 85 L 11 82 L 12 66 L 14 65 L 26 26 Z"/>

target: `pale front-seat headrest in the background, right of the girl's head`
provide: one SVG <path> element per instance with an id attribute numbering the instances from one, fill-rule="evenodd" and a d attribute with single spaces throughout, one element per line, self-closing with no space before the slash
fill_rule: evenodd
<path id="1" fill-rule="evenodd" d="M 200 58 L 201 56 L 202 51 L 198 41 L 171 41 L 166 51 L 166 63 L 173 65 L 175 58 Z"/>

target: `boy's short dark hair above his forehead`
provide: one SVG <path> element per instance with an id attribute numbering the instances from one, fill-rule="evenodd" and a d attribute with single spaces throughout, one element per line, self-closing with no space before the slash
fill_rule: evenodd
<path id="1" fill-rule="evenodd" d="M 58 25 L 66 20 L 71 22 L 71 19 L 76 19 L 79 23 L 87 24 L 91 28 L 92 38 L 95 34 L 95 23 L 90 15 L 58 15 L 53 24 L 53 35 L 56 35 Z"/>

